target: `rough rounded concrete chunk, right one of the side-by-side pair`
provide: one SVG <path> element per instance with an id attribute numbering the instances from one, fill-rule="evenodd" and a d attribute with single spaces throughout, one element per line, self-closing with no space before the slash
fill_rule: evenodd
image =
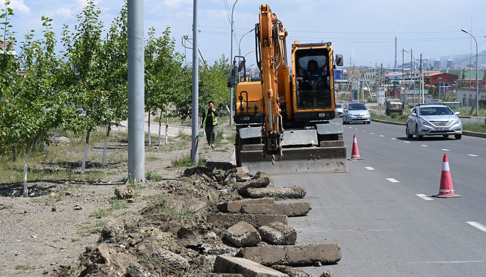
<path id="1" fill-rule="evenodd" d="M 269 225 L 258 228 L 262 240 L 280 245 L 295 244 L 297 232 L 289 225 L 279 222 L 270 223 Z"/>

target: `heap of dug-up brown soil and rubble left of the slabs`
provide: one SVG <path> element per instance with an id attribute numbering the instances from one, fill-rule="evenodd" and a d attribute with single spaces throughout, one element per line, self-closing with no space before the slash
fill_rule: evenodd
<path id="1" fill-rule="evenodd" d="M 215 255 L 238 252 L 222 238 L 226 229 L 207 222 L 217 204 L 238 200 L 226 171 L 197 167 L 177 180 L 158 183 L 160 193 L 140 210 L 137 222 L 112 220 L 99 245 L 88 246 L 75 266 L 58 276 L 193 276 L 212 271 Z M 227 184 L 227 182 L 226 182 Z"/>

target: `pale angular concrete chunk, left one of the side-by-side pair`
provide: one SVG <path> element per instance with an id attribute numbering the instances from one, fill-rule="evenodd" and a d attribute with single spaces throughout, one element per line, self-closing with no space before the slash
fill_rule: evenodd
<path id="1" fill-rule="evenodd" d="M 244 221 L 229 227 L 224 238 L 237 247 L 256 246 L 261 242 L 257 229 Z"/>

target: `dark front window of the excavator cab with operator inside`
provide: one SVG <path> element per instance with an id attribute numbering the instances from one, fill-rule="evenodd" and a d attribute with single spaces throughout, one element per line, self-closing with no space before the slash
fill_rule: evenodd
<path id="1" fill-rule="evenodd" d="M 297 109 L 324 109 L 331 106 L 329 51 L 304 49 L 295 53 L 297 65 Z"/>

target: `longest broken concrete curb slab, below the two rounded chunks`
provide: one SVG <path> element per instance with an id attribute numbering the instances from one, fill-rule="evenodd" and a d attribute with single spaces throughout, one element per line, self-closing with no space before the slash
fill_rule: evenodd
<path id="1" fill-rule="evenodd" d="M 322 264 L 334 264 L 341 260 L 341 247 L 338 244 L 317 245 L 262 245 L 246 247 L 237 257 L 253 260 L 266 266 L 275 264 L 306 266 L 316 261 Z"/>

